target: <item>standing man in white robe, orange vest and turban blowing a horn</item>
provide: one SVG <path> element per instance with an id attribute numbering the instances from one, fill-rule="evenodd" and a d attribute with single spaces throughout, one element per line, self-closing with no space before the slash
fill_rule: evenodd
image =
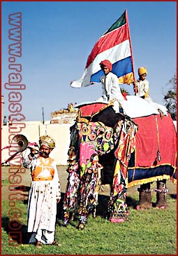
<path id="1" fill-rule="evenodd" d="M 31 169 L 31 188 L 28 201 L 27 231 L 31 234 L 29 243 L 41 248 L 44 245 L 60 245 L 55 241 L 57 203 L 61 199 L 61 185 L 57 165 L 49 155 L 55 147 L 48 135 L 39 138 L 40 151 L 31 148 L 23 161 L 24 168 Z"/>

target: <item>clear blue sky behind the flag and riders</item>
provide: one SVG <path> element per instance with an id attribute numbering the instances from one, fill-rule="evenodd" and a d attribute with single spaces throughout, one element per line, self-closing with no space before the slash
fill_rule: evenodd
<path id="1" fill-rule="evenodd" d="M 8 39 L 13 28 L 8 16 L 22 13 L 22 56 L 15 59 L 22 71 L 20 113 L 25 121 L 49 121 L 51 113 L 98 99 L 101 85 L 72 88 L 84 72 L 96 41 L 127 10 L 135 79 L 138 67 L 147 68 L 149 95 L 164 105 L 177 63 L 176 1 L 4 1 L 1 3 L 1 95 L 3 116 L 12 114 L 10 90 L 5 88 L 9 69 Z M 124 89 L 134 95 L 133 86 Z M 13 90 L 15 91 L 15 90 Z M 16 90 L 17 91 L 17 90 Z"/>

